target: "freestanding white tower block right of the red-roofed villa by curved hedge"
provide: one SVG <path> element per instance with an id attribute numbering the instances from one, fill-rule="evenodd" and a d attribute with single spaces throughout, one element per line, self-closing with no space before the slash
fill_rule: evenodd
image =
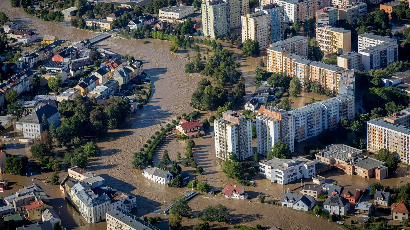
<path id="1" fill-rule="evenodd" d="M 227 110 L 222 117 L 214 120 L 215 153 L 225 159 L 229 152 L 246 160 L 253 155 L 251 119 L 242 113 Z"/>

